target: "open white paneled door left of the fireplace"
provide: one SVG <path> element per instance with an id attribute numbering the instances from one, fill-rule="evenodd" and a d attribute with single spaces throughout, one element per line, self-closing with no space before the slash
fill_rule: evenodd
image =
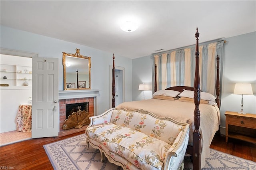
<path id="1" fill-rule="evenodd" d="M 58 58 L 32 59 L 32 138 L 58 136 Z"/>

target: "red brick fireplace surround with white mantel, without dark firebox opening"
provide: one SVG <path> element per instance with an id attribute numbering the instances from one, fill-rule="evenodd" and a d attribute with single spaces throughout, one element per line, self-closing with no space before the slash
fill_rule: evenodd
<path id="1" fill-rule="evenodd" d="M 60 107 L 60 134 L 69 133 L 72 134 L 74 132 L 80 132 L 85 130 L 82 128 L 71 128 L 68 130 L 64 130 L 62 126 L 64 125 L 64 121 L 66 120 L 66 105 L 75 104 L 75 103 L 89 103 L 88 112 L 90 116 L 96 115 L 96 98 L 98 96 L 99 90 L 68 90 L 68 91 L 59 91 L 59 107 Z"/>

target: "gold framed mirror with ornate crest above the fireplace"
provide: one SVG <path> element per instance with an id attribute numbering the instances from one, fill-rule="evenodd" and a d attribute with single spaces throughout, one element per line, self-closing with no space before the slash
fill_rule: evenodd
<path id="1" fill-rule="evenodd" d="M 64 90 L 91 89 L 91 57 L 62 52 Z"/>

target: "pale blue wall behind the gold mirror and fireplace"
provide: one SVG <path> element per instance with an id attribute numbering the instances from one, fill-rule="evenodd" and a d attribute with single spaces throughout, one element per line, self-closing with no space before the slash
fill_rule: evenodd
<path id="1" fill-rule="evenodd" d="M 97 97 L 98 113 L 110 108 L 110 65 L 113 64 L 113 52 L 106 52 L 84 45 L 66 42 L 30 32 L 24 32 L 1 26 L 1 48 L 37 53 L 39 57 L 59 59 L 59 90 L 63 90 L 62 52 L 75 53 L 91 57 L 91 89 L 99 89 Z M 86 38 L 86 37 L 84 37 Z M 115 65 L 124 67 L 125 101 L 132 101 L 132 59 L 115 54 Z M 112 102 L 112 101 L 111 101 Z"/>

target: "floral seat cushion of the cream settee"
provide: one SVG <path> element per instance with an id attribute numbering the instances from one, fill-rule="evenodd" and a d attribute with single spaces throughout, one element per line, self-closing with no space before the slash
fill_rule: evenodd
<path id="1" fill-rule="evenodd" d="M 170 144 L 131 128 L 112 123 L 87 129 L 87 138 L 124 157 L 138 168 L 161 169 Z"/>

